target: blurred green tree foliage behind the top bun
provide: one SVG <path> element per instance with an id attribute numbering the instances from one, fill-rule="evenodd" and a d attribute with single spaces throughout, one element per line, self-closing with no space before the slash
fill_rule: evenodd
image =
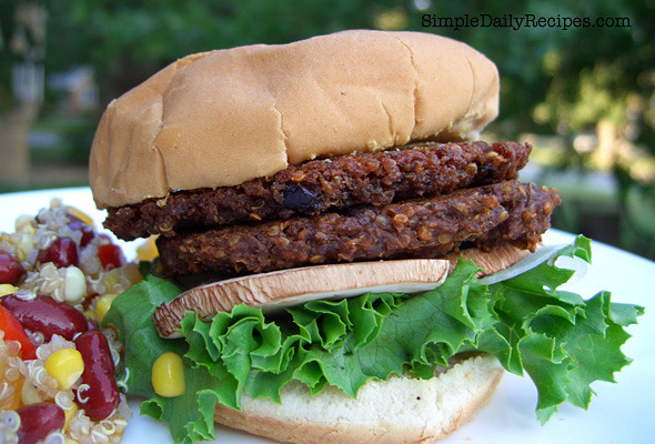
<path id="1" fill-rule="evenodd" d="M 12 11 L 21 1 L 28 0 L 0 1 L 0 109 L 11 100 L 8 48 Z M 639 206 L 655 208 L 655 0 L 40 1 L 48 12 L 46 72 L 91 64 L 102 103 L 175 59 L 211 49 L 284 43 L 353 28 L 419 30 L 465 41 L 501 72 L 501 114 L 490 131 L 503 139 L 554 134 L 565 143 L 552 168 L 612 170 L 619 189 L 607 199 L 621 212 L 621 230 L 638 239 L 635 250 L 655 255 L 655 229 L 629 208 L 635 196 Z M 424 17 L 481 14 L 560 21 L 518 30 L 422 26 Z M 568 18 L 588 18 L 592 24 L 597 18 L 615 19 L 624 26 L 564 29 Z M 578 143 L 590 134 L 604 147 L 603 155 Z M 577 231 L 588 219 L 576 208 L 585 206 L 585 198 L 572 199 L 561 222 Z"/>

